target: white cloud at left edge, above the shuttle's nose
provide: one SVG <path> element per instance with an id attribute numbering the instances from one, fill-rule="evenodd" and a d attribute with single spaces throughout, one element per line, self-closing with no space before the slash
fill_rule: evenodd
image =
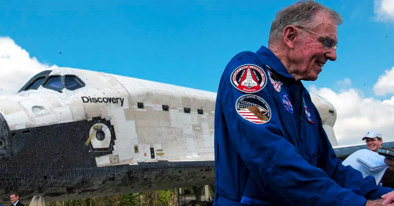
<path id="1" fill-rule="evenodd" d="M 0 37 L 0 98 L 17 93 L 35 74 L 54 66 L 41 64 L 9 37 Z"/>

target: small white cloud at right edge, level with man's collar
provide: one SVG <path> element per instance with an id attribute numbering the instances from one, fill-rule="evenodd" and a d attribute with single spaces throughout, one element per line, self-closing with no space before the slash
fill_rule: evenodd
<path id="1" fill-rule="evenodd" d="M 394 1 L 393 1 L 394 2 Z M 390 71 L 385 70 L 383 75 L 380 75 L 374 85 L 375 95 L 385 95 L 387 93 L 394 94 L 394 67 Z"/>

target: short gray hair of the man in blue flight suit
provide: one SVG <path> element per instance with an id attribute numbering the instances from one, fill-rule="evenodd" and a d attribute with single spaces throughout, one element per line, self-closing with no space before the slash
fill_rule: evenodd
<path id="1" fill-rule="evenodd" d="M 314 21 L 317 12 L 323 11 L 330 15 L 337 25 L 342 24 L 342 16 L 318 2 L 313 0 L 302 0 L 281 9 L 275 16 L 269 31 L 268 44 L 272 44 L 275 40 L 282 37 L 284 27 L 288 25 L 302 26 L 307 29 L 313 29 L 316 24 Z"/>

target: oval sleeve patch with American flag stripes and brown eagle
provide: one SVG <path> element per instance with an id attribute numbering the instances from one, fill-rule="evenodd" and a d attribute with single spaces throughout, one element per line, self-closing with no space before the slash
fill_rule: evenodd
<path id="1" fill-rule="evenodd" d="M 255 124 L 264 124 L 271 119 L 267 102 L 256 95 L 242 95 L 237 99 L 235 108 L 242 118 Z"/>

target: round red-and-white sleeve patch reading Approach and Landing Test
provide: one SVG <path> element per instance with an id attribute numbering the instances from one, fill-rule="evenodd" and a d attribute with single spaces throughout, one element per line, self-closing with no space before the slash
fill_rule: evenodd
<path id="1" fill-rule="evenodd" d="M 266 73 L 257 65 L 245 64 L 232 72 L 231 83 L 240 91 L 255 93 L 266 86 Z"/>

